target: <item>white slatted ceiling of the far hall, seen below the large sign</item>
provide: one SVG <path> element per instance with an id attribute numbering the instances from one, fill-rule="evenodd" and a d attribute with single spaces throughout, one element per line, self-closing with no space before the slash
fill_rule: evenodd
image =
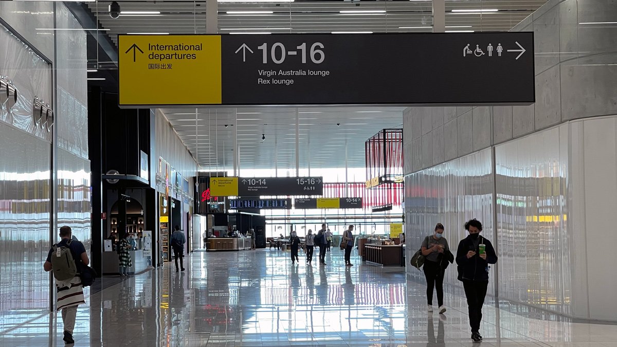
<path id="1" fill-rule="evenodd" d="M 345 167 L 346 148 L 347 165 L 363 167 L 364 141 L 383 128 L 402 127 L 404 108 L 299 107 L 300 167 Z M 236 141 L 241 169 L 296 167 L 294 107 L 162 111 L 204 169 L 233 169 Z"/>

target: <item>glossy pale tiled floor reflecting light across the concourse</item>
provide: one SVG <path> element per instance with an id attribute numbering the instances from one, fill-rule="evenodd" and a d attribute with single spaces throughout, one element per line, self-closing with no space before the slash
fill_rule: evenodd
<path id="1" fill-rule="evenodd" d="M 357 258 L 346 268 L 338 249 L 325 266 L 303 255 L 292 265 L 289 252 L 275 250 L 196 252 L 186 272 L 167 264 L 126 278 L 80 306 L 75 346 L 473 345 L 460 291 L 449 289 L 445 316 L 428 314 L 424 286 L 401 269 Z M 616 325 L 500 307 L 485 306 L 482 346 L 617 347 Z M 64 345 L 58 318 L 4 333 L 0 346 Z"/>

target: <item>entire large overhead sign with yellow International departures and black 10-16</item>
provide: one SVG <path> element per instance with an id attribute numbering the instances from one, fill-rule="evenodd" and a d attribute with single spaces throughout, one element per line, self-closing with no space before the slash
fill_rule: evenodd
<path id="1" fill-rule="evenodd" d="M 531 32 L 119 35 L 120 106 L 531 104 Z"/>

